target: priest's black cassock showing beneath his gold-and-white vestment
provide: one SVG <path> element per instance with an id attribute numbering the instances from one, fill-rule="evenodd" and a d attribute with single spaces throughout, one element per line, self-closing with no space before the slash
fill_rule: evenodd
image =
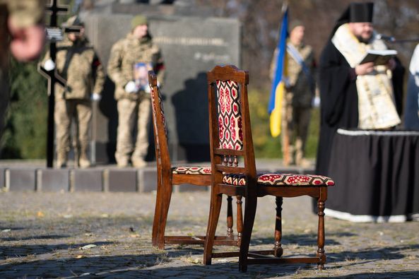
<path id="1" fill-rule="evenodd" d="M 396 109 L 400 115 L 404 68 L 398 59 L 396 62 L 392 82 Z M 348 61 L 329 40 L 321 53 L 319 64 L 321 109 L 316 174 L 329 175 L 331 146 L 336 130 L 358 128 L 358 92 L 351 71 Z"/>

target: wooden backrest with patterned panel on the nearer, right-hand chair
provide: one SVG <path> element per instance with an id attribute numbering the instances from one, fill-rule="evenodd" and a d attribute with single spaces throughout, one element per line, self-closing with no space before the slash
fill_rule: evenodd
<path id="1" fill-rule="evenodd" d="M 211 165 L 216 184 L 223 172 L 245 174 L 247 185 L 256 184 L 256 166 L 247 100 L 247 71 L 216 66 L 207 73 L 210 115 Z"/>

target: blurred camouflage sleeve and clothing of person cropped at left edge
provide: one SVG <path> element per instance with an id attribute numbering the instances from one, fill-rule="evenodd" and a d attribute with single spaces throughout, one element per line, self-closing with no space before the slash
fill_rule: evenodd
<path id="1" fill-rule="evenodd" d="M 44 16 L 42 0 L 0 0 L 0 138 L 4 128 L 4 114 L 8 105 L 8 18 L 16 26 L 27 27 L 42 21 Z"/>

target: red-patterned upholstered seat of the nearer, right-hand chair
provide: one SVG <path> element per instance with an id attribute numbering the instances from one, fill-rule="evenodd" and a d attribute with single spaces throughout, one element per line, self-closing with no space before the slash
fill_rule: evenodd
<path id="1" fill-rule="evenodd" d="M 257 184 L 265 186 L 334 186 L 330 177 L 314 174 L 259 173 Z M 223 183 L 235 186 L 246 185 L 244 174 L 224 174 Z"/>

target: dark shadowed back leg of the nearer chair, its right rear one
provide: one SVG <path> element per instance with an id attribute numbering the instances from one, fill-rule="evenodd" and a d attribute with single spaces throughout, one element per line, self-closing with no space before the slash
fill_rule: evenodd
<path id="1" fill-rule="evenodd" d="M 254 216 L 256 215 L 257 197 L 246 198 L 244 203 L 244 224 L 242 241 L 240 243 L 239 271 L 247 271 L 247 256 L 249 254 L 250 238 L 254 225 Z"/>

